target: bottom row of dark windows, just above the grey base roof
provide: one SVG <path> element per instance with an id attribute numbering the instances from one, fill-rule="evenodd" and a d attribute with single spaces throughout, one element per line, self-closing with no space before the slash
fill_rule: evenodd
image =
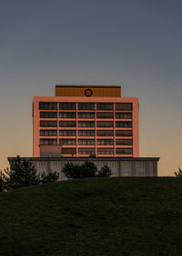
<path id="1" fill-rule="evenodd" d="M 78 148 L 79 155 L 114 155 L 113 148 Z M 76 155 L 76 148 L 65 147 L 62 149 L 63 155 Z M 116 148 L 116 155 L 132 155 L 132 148 Z"/>

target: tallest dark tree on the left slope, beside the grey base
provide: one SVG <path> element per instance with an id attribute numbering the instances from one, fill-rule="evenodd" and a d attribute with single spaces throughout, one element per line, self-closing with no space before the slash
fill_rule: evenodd
<path id="1" fill-rule="evenodd" d="M 10 163 L 10 169 L 5 169 L 9 176 L 9 188 L 29 187 L 40 183 L 39 176 L 36 176 L 35 166 L 19 155 Z"/>

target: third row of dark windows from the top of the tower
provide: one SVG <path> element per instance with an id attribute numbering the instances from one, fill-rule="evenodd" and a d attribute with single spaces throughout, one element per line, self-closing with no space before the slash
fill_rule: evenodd
<path id="1" fill-rule="evenodd" d="M 56 121 L 40 121 L 40 127 L 56 127 Z M 76 127 L 76 121 L 60 121 L 59 127 Z M 78 121 L 78 127 L 95 127 L 95 121 Z M 96 127 L 114 127 L 113 121 L 97 121 Z M 131 128 L 132 122 L 116 121 L 116 127 Z"/>

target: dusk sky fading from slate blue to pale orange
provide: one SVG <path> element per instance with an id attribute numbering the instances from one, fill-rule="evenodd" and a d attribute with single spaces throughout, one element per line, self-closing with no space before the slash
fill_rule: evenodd
<path id="1" fill-rule="evenodd" d="M 139 99 L 140 156 L 182 167 L 180 0 L 0 0 L 0 169 L 32 156 L 33 96 L 121 85 Z"/>

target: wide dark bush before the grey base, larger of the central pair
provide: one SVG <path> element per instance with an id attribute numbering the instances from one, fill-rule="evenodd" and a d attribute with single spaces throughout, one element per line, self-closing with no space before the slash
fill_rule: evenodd
<path id="1" fill-rule="evenodd" d="M 81 178 L 96 176 L 96 165 L 93 162 L 85 162 L 83 165 L 67 163 L 63 168 L 63 173 L 67 178 Z"/>

